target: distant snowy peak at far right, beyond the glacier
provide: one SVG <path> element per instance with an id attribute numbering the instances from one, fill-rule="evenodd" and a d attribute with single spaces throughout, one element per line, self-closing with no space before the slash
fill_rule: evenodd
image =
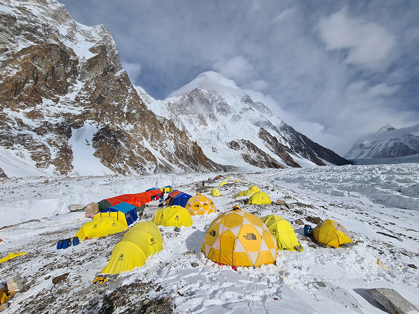
<path id="1" fill-rule="evenodd" d="M 345 158 L 398 158 L 415 154 L 419 154 L 419 136 L 387 124 L 356 141 Z"/>

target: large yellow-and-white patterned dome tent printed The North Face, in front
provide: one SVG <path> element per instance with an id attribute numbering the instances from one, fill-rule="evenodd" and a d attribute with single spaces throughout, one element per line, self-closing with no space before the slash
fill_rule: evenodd
<path id="1" fill-rule="evenodd" d="M 219 264 L 259 267 L 274 263 L 277 249 L 262 220 L 236 205 L 211 222 L 202 251 Z"/>

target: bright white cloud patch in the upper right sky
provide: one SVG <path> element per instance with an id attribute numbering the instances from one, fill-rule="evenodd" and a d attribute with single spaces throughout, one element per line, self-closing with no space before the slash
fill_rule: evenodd
<path id="1" fill-rule="evenodd" d="M 326 49 L 349 49 L 345 63 L 374 70 L 388 67 L 387 57 L 396 39 L 384 27 L 348 18 L 345 11 L 338 11 L 322 18 L 319 29 Z"/>

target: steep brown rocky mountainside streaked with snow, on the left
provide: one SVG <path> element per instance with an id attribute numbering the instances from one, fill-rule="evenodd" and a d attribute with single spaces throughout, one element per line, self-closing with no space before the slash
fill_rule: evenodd
<path id="1" fill-rule="evenodd" d="M 223 169 L 173 122 L 147 109 L 102 25 L 75 22 L 55 0 L 6 0 L 0 43 L 0 160 L 12 156 L 49 174 L 78 174 L 77 143 L 96 163 L 84 169 Z M 83 127 L 96 132 L 84 143 L 70 141 Z"/>

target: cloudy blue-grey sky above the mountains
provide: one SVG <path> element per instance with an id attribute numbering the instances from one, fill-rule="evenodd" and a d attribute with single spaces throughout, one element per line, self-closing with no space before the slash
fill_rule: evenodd
<path id="1" fill-rule="evenodd" d="M 133 84 L 162 99 L 217 71 L 344 155 L 387 122 L 419 123 L 419 1 L 60 0 L 103 24 Z"/>

